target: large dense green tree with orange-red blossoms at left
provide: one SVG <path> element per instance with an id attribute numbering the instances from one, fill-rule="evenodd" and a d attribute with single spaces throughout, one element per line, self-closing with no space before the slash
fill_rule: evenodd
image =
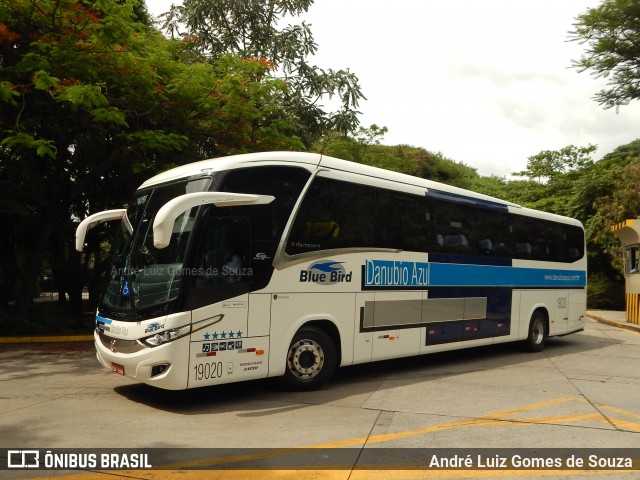
<path id="1" fill-rule="evenodd" d="M 0 286 L 15 292 L 18 318 L 45 261 L 72 266 L 79 313 L 88 256 L 71 246 L 73 218 L 122 205 L 175 164 L 301 146 L 293 124 L 270 120 L 288 91 L 264 75 L 270 65 L 195 62 L 192 42 L 166 39 L 143 13 L 137 0 L 0 0 L 0 262 L 13 272 Z"/>

